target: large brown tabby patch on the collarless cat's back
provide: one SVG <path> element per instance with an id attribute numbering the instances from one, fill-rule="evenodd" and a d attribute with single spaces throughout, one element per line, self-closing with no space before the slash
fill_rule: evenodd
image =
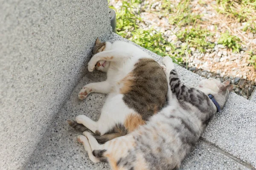
<path id="1" fill-rule="evenodd" d="M 128 75 L 130 77 L 122 79 L 124 84 L 120 92 L 124 95 L 123 100 L 147 121 L 166 104 L 166 74 L 154 59 L 141 58 Z"/>

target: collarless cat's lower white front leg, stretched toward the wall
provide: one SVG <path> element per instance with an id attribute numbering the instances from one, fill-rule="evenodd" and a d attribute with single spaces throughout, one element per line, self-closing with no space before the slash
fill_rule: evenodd
<path id="1" fill-rule="evenodd" d="M 108 94 L 110 89 L 111 85 L 107 81 L 89 83 L 79 91 L 78 98 L 83 100 L 92 92 Z"/>

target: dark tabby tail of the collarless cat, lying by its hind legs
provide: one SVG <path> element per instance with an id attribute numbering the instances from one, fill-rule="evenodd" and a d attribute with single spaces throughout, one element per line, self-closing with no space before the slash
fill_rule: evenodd
<path id="1" fill-rule="evenodd" d="M 110 141 L 112 139 L 115 139 L 117 137 L 124 136 L 124 135 L 127 134 L 127 132 L 125 130 L 121 129 L 119 126 L 116 126 L 115 131 L 117 131 L 117 132 L 106 133 L 106 134 L 104 134 L 102 136 L 99 136 L 96 133 L 93 133 L 90 129 L 88 129 L 84 125 L 79 124 L 79 123 L 77 123 L 74 120 L 67 120 L 67 123 L 71 127 L 73 127 L 75 130 L 78 130 L 80 132 L 84 132 L 84 131 L 90 132 L 95 137 L 95 139 L 98 141 L 99 144 L 104 144 L 104 143 L 106 143 L 106 142 L 108 142 L 108 141 Z"/>

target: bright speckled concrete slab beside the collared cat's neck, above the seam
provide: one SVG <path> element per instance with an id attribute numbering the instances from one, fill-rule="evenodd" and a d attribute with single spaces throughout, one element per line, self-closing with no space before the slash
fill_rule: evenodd
<path id="1" fill-rule="evenodd" d="M 223 112 L 212 119 L 203 138 L 256 167 L 256 104 L 231 94 Z"/>

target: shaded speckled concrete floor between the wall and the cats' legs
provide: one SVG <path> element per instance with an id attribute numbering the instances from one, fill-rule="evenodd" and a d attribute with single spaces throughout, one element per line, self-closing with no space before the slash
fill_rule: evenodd
<path id="1" fill-rule="evenodd" d="M 93 93 L 83 101 L 77 97 L 84 85 L 95 82 L 95 79 L 93 81 L 87 77 L 90 76 L 81 79 L 67 103 L 61 108 L 24 170 L 109 169 L 108 164 L 94 164 L 89 160 L 84 147 L 76 141 L 76 136 L 82 133 L 73 130 L 66 122 L 67 119 L 75 119 L 79 114 L 85 114 L 93 120 L 99 119 L 106 95 Z"/>

